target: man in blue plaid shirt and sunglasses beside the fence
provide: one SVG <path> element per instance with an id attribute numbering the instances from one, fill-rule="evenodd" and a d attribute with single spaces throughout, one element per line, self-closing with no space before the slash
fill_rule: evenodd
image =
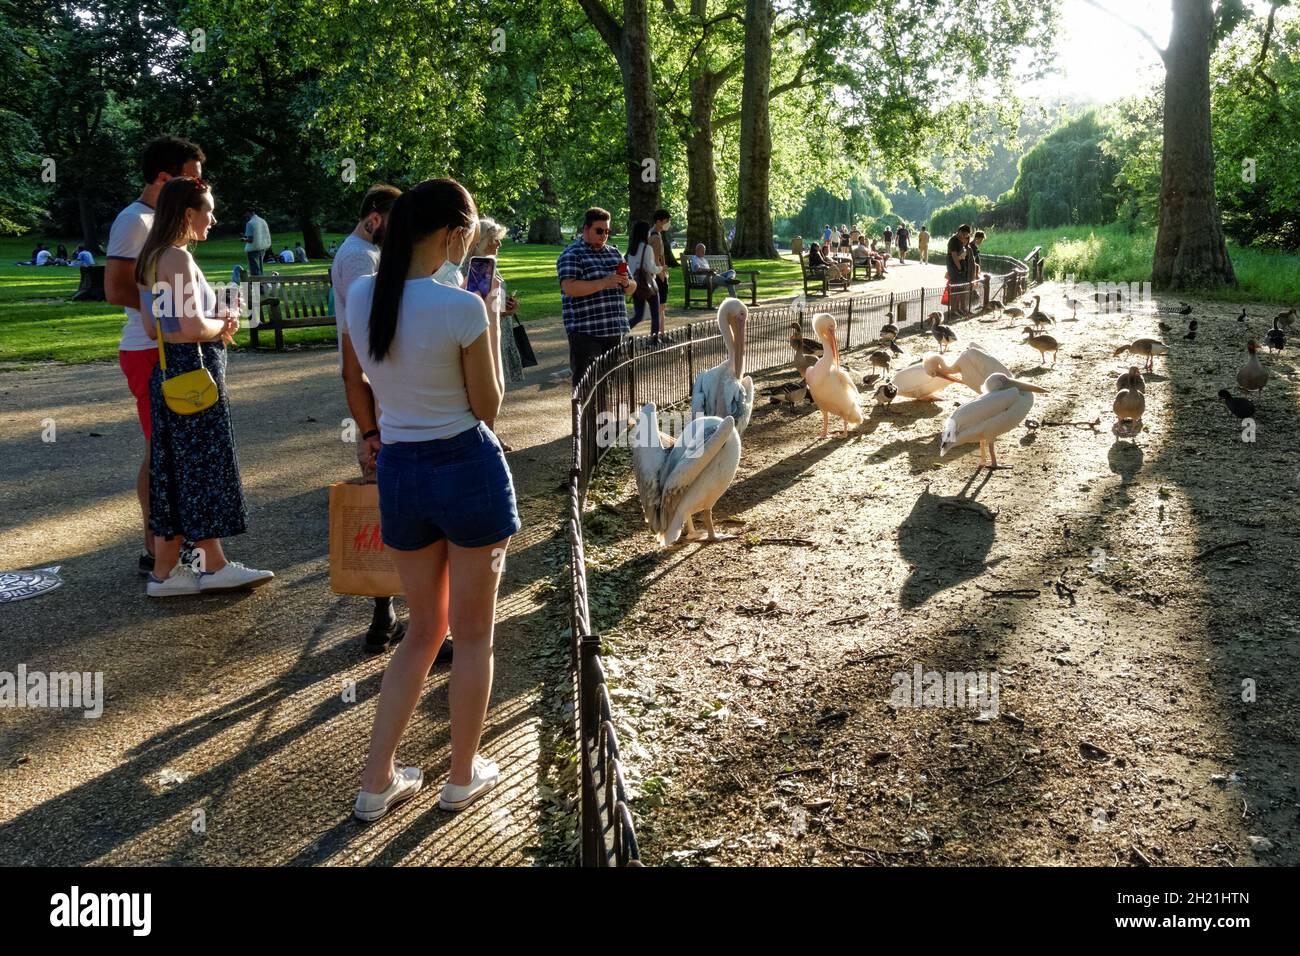
<path id="1" fill-rule="evenodd" d="M 606 242 L 608 237 L 610 213 L 598 207 L 588 209 L 581 234 L 555 261 L 575 385 L 586 367 L 629 330 L 627 297 L 637 284 L 627 271 L 619 272 L 623 255 Z"/>

